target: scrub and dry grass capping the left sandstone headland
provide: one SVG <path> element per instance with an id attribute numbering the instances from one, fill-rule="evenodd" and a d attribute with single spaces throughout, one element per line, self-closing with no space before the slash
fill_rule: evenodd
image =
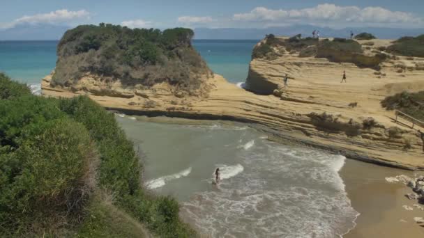
<path id="1" fill-rule="evenodd" d="M 191 29 L 129 29 L 84 25 L 66 31 L 57 47 L 52 85 L 70 86 L 84 74 L 123 84 L 152 86 L 163 81 L 193 90 L 210 74 L 191 45 Z"/>

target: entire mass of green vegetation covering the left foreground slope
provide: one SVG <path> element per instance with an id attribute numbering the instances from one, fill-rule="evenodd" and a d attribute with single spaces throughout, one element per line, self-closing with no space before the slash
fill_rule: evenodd
<path id="1" fill-rule="evenodd" d="M 159 237 L 197 236 L 180 221 L 176 200 L 142 189 L 139 158 L 112 113 L 88 97 L 31 95 L 3 74 L 0 88 L 10 92 L 0 100 L 0 237 L 137 232 L 133 224 L 121 233 L 119 217 Z M 118 215 L 93 195 L 105 192 Z"/>

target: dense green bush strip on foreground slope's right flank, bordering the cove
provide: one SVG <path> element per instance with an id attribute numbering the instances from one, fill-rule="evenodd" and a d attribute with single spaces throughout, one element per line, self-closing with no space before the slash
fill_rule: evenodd
<path id="1" fill-rule="evenodd" d="M 119 128 L 114 115 L 88 97 L 61 100 L 60 109 L 89 130 L 100 152 L 100 184 L 119 193 L 134 194 L 139 189 L 140 164 L 133 145 Z"/>

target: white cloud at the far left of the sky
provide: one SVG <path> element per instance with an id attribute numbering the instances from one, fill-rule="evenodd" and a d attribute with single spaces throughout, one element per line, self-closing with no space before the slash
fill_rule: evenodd
<path id="1" fill-rule="evenodd" d="M 90 13 L 86 10 L 69 11 L 67 9 L 56 10 L 50 13 L 43 13 L 31 16 L 23 16 L 13 22 L 0 24 L 0 28 L 13 28 L 19 24 L 60 24 L 69 23 L 78 19 L 89 19 Z"/>

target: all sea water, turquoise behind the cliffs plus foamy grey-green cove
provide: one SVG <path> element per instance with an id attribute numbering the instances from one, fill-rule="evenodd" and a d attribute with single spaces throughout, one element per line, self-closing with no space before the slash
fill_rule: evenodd
<path id="1" fill-rule="evenodd" d="M 0 71 L 40 93 L 57 41 L 1 42 Z M 257 40 L 195 40 L 209 67 L 245 81 Z M 175 196 L 208 237 L 340 237 L 356 212 L 339 175 L 345 157 L 281 145 L 241 126 L 167 125 L 116 116 L 144 156 L 147 189 Z M 215 168 L 222 183 L 211 184 Z"/>

